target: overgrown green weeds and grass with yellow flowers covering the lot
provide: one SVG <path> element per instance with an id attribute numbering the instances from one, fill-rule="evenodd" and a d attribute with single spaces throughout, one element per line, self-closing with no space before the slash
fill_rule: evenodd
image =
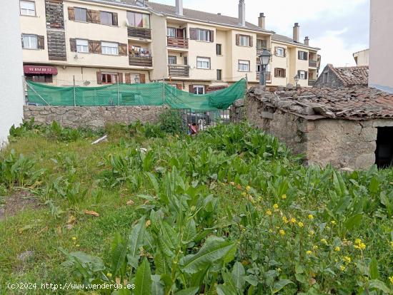
<path id="1" fill-rule="evenodd" d="M 66 278 L 135 286 L 102 294 L 392 294 L 392 170 L 304 167 L 247 125 L 190 138 L 175 119 L 108 126 L 98 145 L 88 130 L 14 128 L 2 185 L 46 207 L 0 221 L 3 289 Z"/>

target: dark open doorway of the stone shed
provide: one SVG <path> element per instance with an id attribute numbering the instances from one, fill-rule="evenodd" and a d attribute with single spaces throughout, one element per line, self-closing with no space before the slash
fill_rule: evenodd
<path id="1" fill-rule="evenodd" d="M 378 128 L 375 158 L 378 168 L 393 166 L 393 127 Z"/>

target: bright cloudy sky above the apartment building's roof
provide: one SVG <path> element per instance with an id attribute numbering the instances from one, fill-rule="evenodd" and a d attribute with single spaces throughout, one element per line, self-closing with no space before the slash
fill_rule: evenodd
<path id="1" fill-rule="evenodd" d="M 175 5 L 175 0 L 151 0 Z M 184 0 L 184 8 L 237 17 L 239 0 Z M 246 0 L 247 21 L 258 24 L 259 12 L 267 29 L 292 36 L 295 22 L 301 40 L 322 48 L 322 66 L 354 66 L 352 53 L 369 48 L 369 0 Z"/>

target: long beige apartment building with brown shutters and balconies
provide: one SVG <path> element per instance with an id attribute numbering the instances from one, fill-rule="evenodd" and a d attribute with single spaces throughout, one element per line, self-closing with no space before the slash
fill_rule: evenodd
<path id="1" fill-rule="evenodd" d="M 163 81 L 201 94 L 247 77 L 259 83 L 259 55 L 272 51 L 267 86 L 312 86 L 319 48 L 239 18 L 141 0 L 19 0 L 26 79 L 56 86 Z M 75 82 L 74 82 L 75 81 Z"/>

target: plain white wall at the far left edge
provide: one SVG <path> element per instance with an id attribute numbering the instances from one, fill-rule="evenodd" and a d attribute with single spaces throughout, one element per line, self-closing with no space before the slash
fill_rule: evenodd
<path id="1" fill-rule="evenodd" d="M 19 1 L 0 1 L 0 145 L 4 145 L 12 125 L 19 125 L 23 118 L 23 66 Z"/>

